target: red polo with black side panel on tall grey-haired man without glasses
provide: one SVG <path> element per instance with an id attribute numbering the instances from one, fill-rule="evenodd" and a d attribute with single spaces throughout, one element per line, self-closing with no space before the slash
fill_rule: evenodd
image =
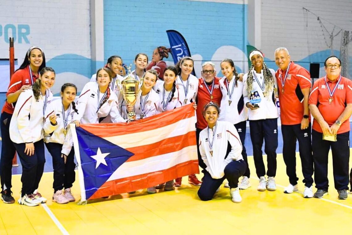
<path id="1" fill-rule="evenodd" d="M 282 87 L 281 82 L 283 81 L 285 74 L 286 70 L 282 71 L 280 68 L 275 74 L 279 90 L 281 124 L 300 124 L 304 115 L 304 96 L 301 89 L 312 87 L 312 80 L 310 79 L 310 74 L 307 69 L 295 64 L 292 61 L 287 73 L 284 87 Z M 284 89 L 283 93 L 282 89 Z"/>

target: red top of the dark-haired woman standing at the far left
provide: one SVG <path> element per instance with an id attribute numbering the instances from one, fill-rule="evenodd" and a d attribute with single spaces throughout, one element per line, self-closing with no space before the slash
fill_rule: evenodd
<path id="1" fill-rule="evenodd" d="M 35 82 L 38 76 L 34 75 L 34 73 L 32 72 L 32 78 L 33 82 Z M 6 92 L 6 97 L 8 94 L 17 92 L 19 89 L 21 89 L 23 85 L 32 85 L 31 76 L 29 74 L 29 66 L 24 69 L 17 70 L 12 75 L 10 84 L 8 85 L 8 89 Z M 13 104 L 8 103 L 6 100 L 4 106 L 2 107 L 1 113 L 5 111 L 7 113 L 13 114 L 14 109 L 15 108 Z"/>

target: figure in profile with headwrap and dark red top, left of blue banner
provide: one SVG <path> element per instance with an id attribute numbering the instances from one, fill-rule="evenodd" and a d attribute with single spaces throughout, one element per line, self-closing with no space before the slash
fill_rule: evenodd
<path id="1" fill-rule="evenodd" d="M 170 48 L 163 46 L 155 48 L 152 55 L 152 61 L 147 65 L 145 69 L 154 69 L 158 73 L 158 78 L 163 80 L 164 71 L 166 68 L 166 63 L 163 61 L 163 58 L 168 58 L 170 51 Z"/>

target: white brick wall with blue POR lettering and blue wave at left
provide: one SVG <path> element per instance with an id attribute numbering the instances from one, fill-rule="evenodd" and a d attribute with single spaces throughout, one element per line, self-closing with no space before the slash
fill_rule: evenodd
<path id="1" fill-rule="evenodd" d="M 87 0 L 1 0 L 0 58 L 8 58 L 12 31 L 5 30 L 7 25 L 16 32 L 15 58 L 19 63 L 29 47 L 38 45 L 45 52 L 47 65 L 57 72 L 54 92 L 68 81 L 82 88 L 91 75 L 89 24 Z M 24 37 L 19 40 L 19 25 L 25 25 L 22 33 L 27 41 Z"/>

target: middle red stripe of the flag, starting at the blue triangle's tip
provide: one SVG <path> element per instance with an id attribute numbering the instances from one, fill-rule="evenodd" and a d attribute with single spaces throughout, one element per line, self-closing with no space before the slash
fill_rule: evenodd
<path id="1" fill-rule="evenodd" d="M 190 131 L 185 135 L 167 138 L 156 143 L 128 148 L 126 150 L 134 153 L 134 155 L 130 157 L 130 159 L 128 159 L 126 162 L 137 161 L 148 157 L 172 153 L 192 145 L 196 145 L 195 131 Z"/>

